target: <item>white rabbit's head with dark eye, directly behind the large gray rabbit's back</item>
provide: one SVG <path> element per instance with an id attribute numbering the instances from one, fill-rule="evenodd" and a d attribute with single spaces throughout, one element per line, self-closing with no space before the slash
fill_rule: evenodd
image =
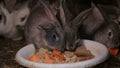
<path id="1" fill-rule="evenodd" d="M 28 2 L 22 3 L 14 12 L 14 22 L 18 31 L 23 31 L 25 23 L 30 13 Z"/>

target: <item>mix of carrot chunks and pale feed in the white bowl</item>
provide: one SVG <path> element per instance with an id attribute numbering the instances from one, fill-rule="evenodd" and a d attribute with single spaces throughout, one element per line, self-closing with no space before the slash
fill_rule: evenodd
<path id="1" fill-rule="evenodd" d="M 28 60 L 46 64 L 61 64 L 85 61 L 92 58 L 94 58 L 94 55 L 92 55 L 92 53 L 87 50 L 84 45 L 81 45 L 76 48 L 74 52 L 65 51 L 63 53 L 56 49 L 49 51 L 48 49 L 40 48 L 39 51 L 30 56 Z"/>

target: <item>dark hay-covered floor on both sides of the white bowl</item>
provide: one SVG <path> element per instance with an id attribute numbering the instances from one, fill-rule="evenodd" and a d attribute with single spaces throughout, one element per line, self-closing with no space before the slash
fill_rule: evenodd
<path id="1" fill-rule="evenodd" d="M 25 68 L 14 60 L 16 52 L 25 45 L 24 40 L 0 39 L 0 68 Z M 120 68 L 120 53 L 93 68 Z"/>

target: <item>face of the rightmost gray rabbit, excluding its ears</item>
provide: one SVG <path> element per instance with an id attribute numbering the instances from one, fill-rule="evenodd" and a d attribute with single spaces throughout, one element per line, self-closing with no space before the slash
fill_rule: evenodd
<path id="1" fill-rule="evenodd" d="M 120 31 L 118 25 L 112 22 L 109 25 L 101 27 L 98 32 L 96 32 L 94 40 L 110 48 L 119 47 Z"/>

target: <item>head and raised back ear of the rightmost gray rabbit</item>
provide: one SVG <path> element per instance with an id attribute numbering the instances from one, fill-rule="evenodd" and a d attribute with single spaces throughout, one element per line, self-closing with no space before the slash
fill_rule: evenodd
<path id="1" fill-rule="evenodd" d="M 94 40 L 105 44 L 107 47 L 114 48 L 120 46 L 120 29 L 119 25 L 112 20 L 109 15 L 99 7 L 104 18 L 104 24 L 99 27 L 95 33 Z"/>

